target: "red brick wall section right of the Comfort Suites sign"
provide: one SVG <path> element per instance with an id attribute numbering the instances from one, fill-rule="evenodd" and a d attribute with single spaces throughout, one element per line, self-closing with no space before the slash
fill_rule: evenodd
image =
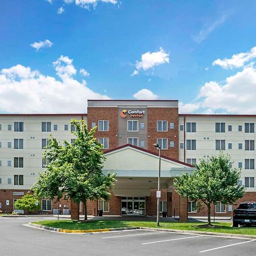
<path id="1" fill-rule="evenodd" d="M 147 109 L 148 150 L 156 152 L 152 145 L 157 138 L 168 138 L 168 150 L 162 150 L 162 155 L 179 160 L 179 114 L 178 108 L 148 108 Z M 157 131 L 158 120 L 168 121 L 168 131 Z M 174 123 L 174 129 L 170 129 L 170 123 Z M 174 147 L 170 148 L 170 141 L 174 141 Z"/>

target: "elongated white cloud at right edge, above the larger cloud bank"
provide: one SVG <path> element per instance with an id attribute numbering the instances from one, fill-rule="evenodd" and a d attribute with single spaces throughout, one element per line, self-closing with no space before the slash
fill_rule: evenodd
<path id="1" fill-rule="evenodd" d="M 222 68 L 225 69 L 232 69 L 232 68 L 241 68 L 252 59 L 256 57 L 256 47 L 250 49 L 249 52 L 241 52 L 238 54 L 234 54 L 230 59 L 217 59 L 213 61 L 213 65 L 220 65 Z"/>

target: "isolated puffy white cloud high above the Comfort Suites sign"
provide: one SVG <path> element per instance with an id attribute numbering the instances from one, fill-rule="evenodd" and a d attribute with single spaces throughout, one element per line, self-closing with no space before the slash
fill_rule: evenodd
<path id="1" fill-rule="evenodd" d="M 141 56 L 141 61 L 136 61 L 136 69 L 131 76 L 138 75 L 139 71 L 143 69 L 154 68 L 160 64 L 169 63 L 169 54 L 160 47 L 158 52 L 146 52 Z"/>

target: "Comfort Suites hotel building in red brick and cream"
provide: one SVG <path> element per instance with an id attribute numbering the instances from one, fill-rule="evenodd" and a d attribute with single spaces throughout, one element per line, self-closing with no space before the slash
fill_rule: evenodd
<path id="1" fill-rule="evenodd" d="M 255 201 L 256 115 L 179 114 L 178 101 L 88 100 L 87 114 L 0 114 L 0 210 L 12 212 L 14 201 L 30 191 L 38 172 L 45 170 L 42 152 L 49 134 L 71 141 L 71 119 L 85 119 L 88 129 L 97 126 L 96 138 L 106 158 L 103 172 L 116 171 L 110 201 L 88 202 L 88 213 L 102 209 L 110 215 L 155 215 L 160 144 L 160 211 L 168 216 L 202 216 L 196 202 L 180 199 L 173 180 L 191 173 L 201 158 L 228 153 L 232 167 L 241 168 L 246 195 L 240 201 Z M 218 202 L 212 215 L 231 216 L 236 205 Z M 42 200 L 42 210 L 51 213 L 57 205 Z M 74 210 L 61 202 L 61 212 Z M 15 209 L 18 210 L 18 209 Z M 82 205 L 80 205 L 80 211 Z"/>

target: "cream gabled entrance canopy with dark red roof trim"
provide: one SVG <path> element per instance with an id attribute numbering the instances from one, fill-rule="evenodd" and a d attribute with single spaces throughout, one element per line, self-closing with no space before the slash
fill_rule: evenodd
<path id="1" fill-rule="evenodd" d="M 150 196 L 151 188 L 158 185 L 159 156 L 152 152 L 126 144 L 105 151 L 103 173 L 117 172 L 113 193 L 115 196 Z M 174 177 L 191 173 L 193 166 L 179 160 L 161 156 L 161 188 L 172 191 Z"/>

